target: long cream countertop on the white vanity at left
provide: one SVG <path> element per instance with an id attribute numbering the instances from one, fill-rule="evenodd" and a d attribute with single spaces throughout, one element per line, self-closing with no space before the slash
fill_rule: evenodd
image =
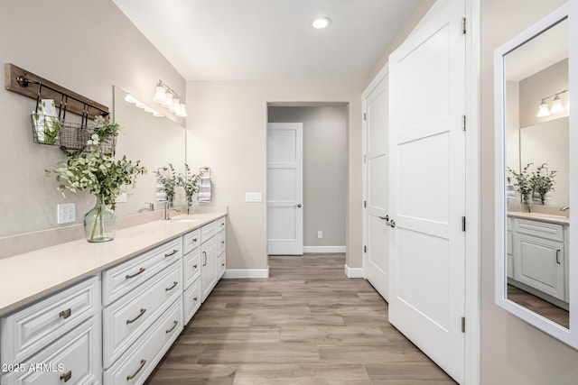
<path id="1" fill-rule="evenodd" d="M 154 221 L 117 230 L 117 235 L 111 242 L 89 243 L 81 239 L 2 259 L 0 315 L 129 260 L 225 215 L 227 210 L 176 215 L 171 221 Z M 178 221 L 183 217 L 200 220 Z"/>

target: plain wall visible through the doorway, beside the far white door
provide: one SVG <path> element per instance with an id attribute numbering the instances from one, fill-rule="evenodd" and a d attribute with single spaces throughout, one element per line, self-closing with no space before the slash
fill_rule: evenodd
<path id="1" fill-rule="evenodd" d="M 345 106 L 270 106 L 268 112 L 270 123 L 303 123 L 303 245 L 344 246 Z"/>

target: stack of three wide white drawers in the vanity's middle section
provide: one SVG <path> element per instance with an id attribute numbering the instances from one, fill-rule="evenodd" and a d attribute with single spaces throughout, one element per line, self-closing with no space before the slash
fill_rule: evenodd
<path id="1" fill-rule="evenodd" d="M 182 238 L 102 272 L 105 384 L 142 383 L 182 331 Z"/>

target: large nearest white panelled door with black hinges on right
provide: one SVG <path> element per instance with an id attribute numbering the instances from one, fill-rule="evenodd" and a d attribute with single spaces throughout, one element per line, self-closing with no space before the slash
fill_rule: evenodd
<path id="1" fill-rule="evenodd" d="M 389 58 L 389 320 L 463 382 L 465 5 L 436 5 Z"/>

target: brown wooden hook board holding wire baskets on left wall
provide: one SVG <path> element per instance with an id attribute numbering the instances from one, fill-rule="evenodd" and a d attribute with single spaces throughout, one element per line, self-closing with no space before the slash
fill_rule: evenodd
<path id="1" fill-rule="evenodd" d="M 63 108 L 65 108 L 67 112 L 83 115 L 88 108 L 89 119 L 94 119 L 98 115 L 106 116 L 109 114 L 106 105 L 101 105 L 88 97 L 70 91 L 68 88 L 61 87 L 56 83 L 52 83 L 50 80 L 34 75 L 30 71 L 14 66 L 14 64 L 5 64 L 5 88 L 8 91 L 37 100 L 39 87 L 34 87 L 33 85 L 41 84 L 42 99 L 53 99 L 54 103 L 58 106 L 62 97 L 66 96 L 66 105 L 63 106 Z"/>

